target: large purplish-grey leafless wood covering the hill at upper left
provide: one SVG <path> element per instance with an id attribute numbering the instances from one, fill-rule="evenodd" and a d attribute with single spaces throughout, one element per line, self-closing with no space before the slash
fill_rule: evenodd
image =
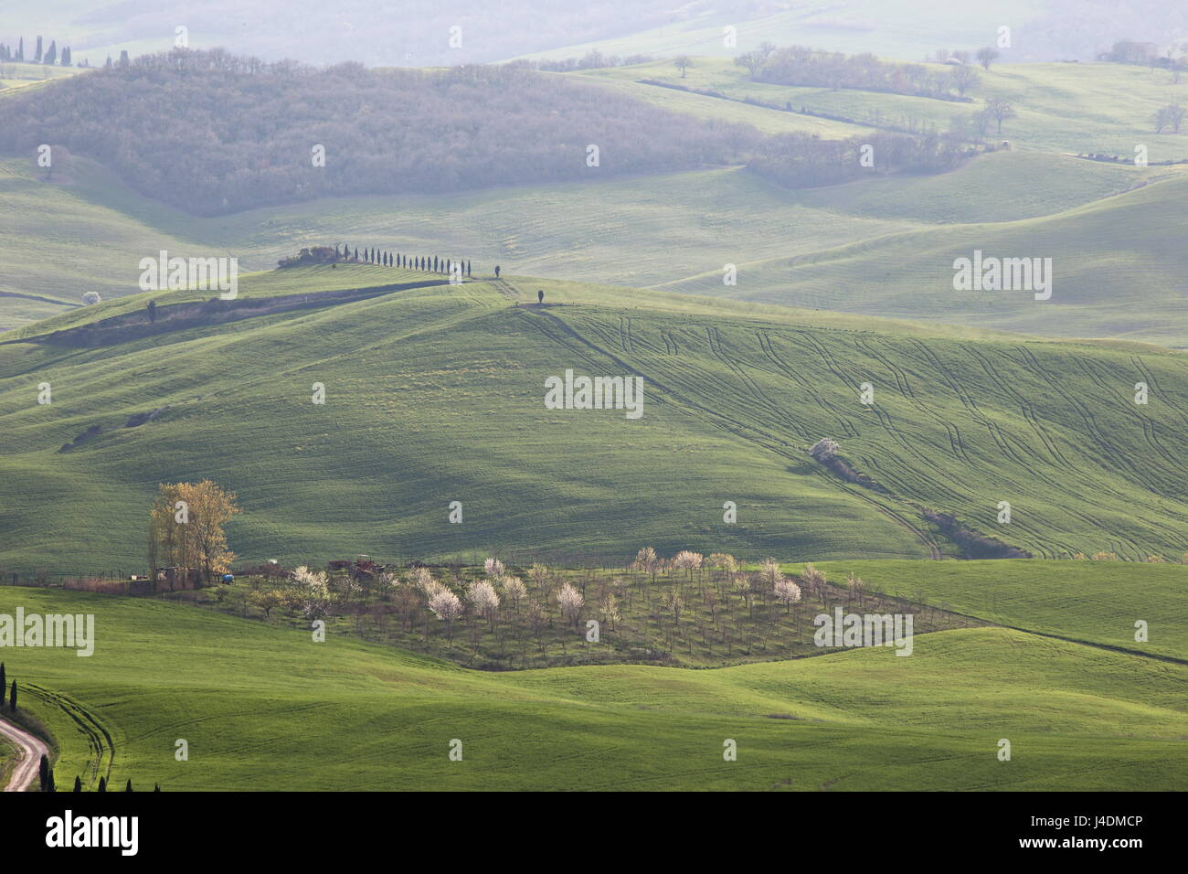
<path id="1" fill-rule="evenodd" d="M 516 67 L 320 70 L 221 50 L 121 61 L 0 102 L 0 149 L 61 144 L 200 215 L 716 166 L 745 159 L 758 139 Z M 324 165 L 311 159 L 316 146 Z"/>

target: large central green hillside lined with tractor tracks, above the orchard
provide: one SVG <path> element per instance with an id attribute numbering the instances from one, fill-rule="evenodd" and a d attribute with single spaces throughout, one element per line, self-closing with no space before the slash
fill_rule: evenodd
<path id="1" fill-rule="evenodd" d="M 537 288 L 571 306 L 511 306 Z M 12 536 L 0 560 L 138 567 L 156 484 L 208 476 L 240 495 L 232 542 L 255 559 L 624 557 L 645 542 L 789 560 L 853 555 L 855 543 L 871 558 L 948 549 L 914 503 L 1040 555 L 1188 551 L 1182 358 L 805 321 L 513 279 L 112 348 L 4 346 L 0 528 Z M 544 378 L 565 369 L 642 375 L 644 417 L 545 410 Z M 1151 385 L 1148 407 L 1131 402 L 1138 379 Z M 36 404 L 43 381 L 51 405 Z M 314 382 L 324 407 L 310 403 Z M 873 409 L 858 403 L 861 382 L 876 385 Z M 160 420 L 121 427 L 165 403 Z M 91 425 L 114 430 L 57 452 Z M 824 435 L 895 497 L 808 459 Z M 1004 499 L 1010 527 L 994 522 Z M 447 523 L 450 501 L 465 503 L 466 523 Z M 722 524 L 723 501 L 738 502 L 737 526 Z"/>

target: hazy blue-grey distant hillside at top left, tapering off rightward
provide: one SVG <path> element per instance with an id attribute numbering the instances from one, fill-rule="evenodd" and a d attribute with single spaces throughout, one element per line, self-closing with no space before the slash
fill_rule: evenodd
<path id="1" fill-rule="evenodd" d="M 358 61 L 368 65 L 436 67 L 482 63 L 560 45 L 646 31 L 716 13 L 737 19 L 771 14 L 784 0 L 63 0 L 52 8 L 5 8 L 0 39 L 18 33 L 58 34 L 81 59 L 100 64 L 107 51 L 133 54 L 172 48 L 185 26 L 190 45 L 225 45 L 265 59 L 310 63 Z M 8 4 L 6 4 L 8 6 Z M 451 27 L 460 27 L 450 44 Z M 456 33 L 456 32 L 455 32 Z"/>

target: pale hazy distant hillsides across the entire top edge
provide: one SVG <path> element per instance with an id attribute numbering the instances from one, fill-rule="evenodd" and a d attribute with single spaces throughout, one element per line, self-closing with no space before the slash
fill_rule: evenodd
<path id="1" fill-rule="evenodd" d="M 24 34 L 72 45 L 77 59 L 173 46 L 178 26 L 192 48 L 223 45 L 265 59 L 368 65 L 453 65 L 532 54 L 580 55 L 598 46 L 623 56 L 729 55 L 771 39 L 839 51 L 920 59 L 937 49 L 973 49 L 1012 31 L 1010 61 L 1087 59 L 1116 39 L 1164 45 L 1183 39 L 1188 7 L 1161 0 L 58 0 L 6 4 L 0 40 Z M 451 45 L 451 27 L 459 39 Z"/>

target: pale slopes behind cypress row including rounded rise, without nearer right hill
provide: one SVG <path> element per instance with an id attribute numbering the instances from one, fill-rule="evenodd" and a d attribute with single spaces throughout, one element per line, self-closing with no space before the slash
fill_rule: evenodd
<path id="1" fill-rule="evenodd" d="M 715 282 L 689 283 L 716 294 L 723 290 L 726 263 L 808 256 L 937 222 L 1045 215 L 1158 176 L 1056 156 L 1000 153 L 940 177 L 800 193 L 737 169 L 442 197 L 327 200 L 194 219 L 139 197 L 90 162 L 75 158 L 67 184 L 45 184 L 27 161 L 13 158 L 0 163 L 7 206 L 0 214 L 0 293 L 62 304 L 0 297 L 0 327 L 64 312 L 84 290 L 97 290 L 105 300 L 137 294 L 140 258 L 160 249 L 235 254 L 241 269 L 258 270 L 303 245 L 350 240 L 462 253 L 482 270 L 499 263 L 520 273 L 623 285 L 719 271 Z M 740 290 L 748 288 L 754 288 L 753 276 Z M 814 300 L 830 306 L 822 296 Z"/>

